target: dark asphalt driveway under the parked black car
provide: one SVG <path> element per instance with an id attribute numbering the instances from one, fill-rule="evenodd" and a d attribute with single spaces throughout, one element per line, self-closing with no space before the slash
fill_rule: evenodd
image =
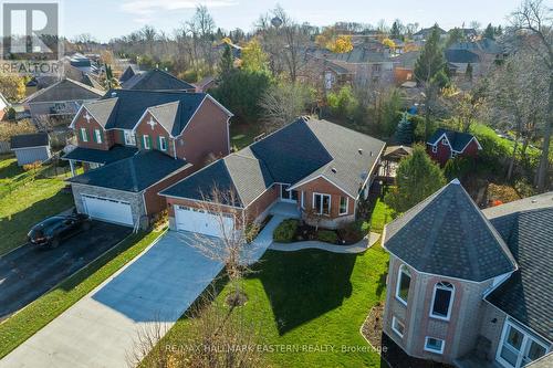
<path id="1" fill-rule="evenodd" d="M 36 299 L 131 232 L 131 228 L 93 221 L 88 231 L 56 249 L 41 250 L 27 244 L 1 256 L 0 320 Z"/>

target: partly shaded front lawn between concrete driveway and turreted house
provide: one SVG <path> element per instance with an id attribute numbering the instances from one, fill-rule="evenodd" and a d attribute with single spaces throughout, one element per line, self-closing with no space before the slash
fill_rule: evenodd
<path id="1" fill-rule="evenodd" d="M 363 254 L 316 250 L 268 251 L 255 272 L 243 281 L 247 318 L 261 325 L 264 343 L 326 347 L 327 351 L 268 353 L 272 367 L 379 367 L 379 356 L 359 334 L 371 308 L 385 297 L 388 255 L 379 245 Z M 222 303 L 226 285 L 217 296 Z M 179 344 L 187 334 L 181 317 L 158 348 Z M 344 353 L 343 347 L 355 349 Z M 147 360 L 144 362 L 147 366 Z"/>

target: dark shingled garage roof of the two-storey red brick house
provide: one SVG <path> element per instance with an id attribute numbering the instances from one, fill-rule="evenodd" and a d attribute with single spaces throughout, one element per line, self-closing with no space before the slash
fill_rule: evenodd
<path id="1" fill-rule="evenodd" d="M 189 166 L 157 150 L 140 151 L 98 169 L 69 179 L 88 186 L 138 192 L 168 175 Z"/>

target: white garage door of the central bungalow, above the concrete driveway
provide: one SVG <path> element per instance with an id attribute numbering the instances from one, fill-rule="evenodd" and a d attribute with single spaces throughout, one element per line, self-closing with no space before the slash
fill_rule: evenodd
<path id="1" fill-rule="evenodd" d="M 220 236 L 220 220 L 217 214 L 192 209 L 185 206 L 175 206 L 175 222 L 177 230 L 191 231 L 200 234 Z M 226 229 L 232 230 L 232 218 L 225 218 Z"/>

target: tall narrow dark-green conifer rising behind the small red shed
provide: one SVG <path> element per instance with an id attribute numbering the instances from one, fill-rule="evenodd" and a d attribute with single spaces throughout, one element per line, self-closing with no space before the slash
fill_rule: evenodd
<path id="1" fill-rule="evenodd" d="M 435 24 L 415 63 L 415 78 L 425 88 L 425 138 L 430 135 L 431 115 L 436 108 L 438 91 L 449 82 L 446 74 L 446 59 L 439 41 L 438 24 Z"/>

